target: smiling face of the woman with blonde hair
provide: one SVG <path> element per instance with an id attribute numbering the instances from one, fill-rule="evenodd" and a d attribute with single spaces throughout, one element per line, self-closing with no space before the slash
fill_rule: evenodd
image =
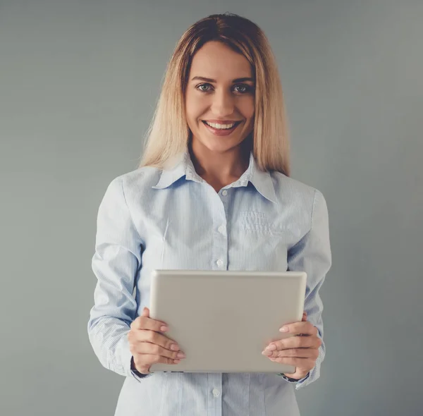
<path id="1" fill-rule="evenodd" d="M 254 112 L 250 63 L 221 42 L 204 44 L 192 59 L 185 92 L 192 141 L 214 152 L 233 149 L 251 132 Z"/>

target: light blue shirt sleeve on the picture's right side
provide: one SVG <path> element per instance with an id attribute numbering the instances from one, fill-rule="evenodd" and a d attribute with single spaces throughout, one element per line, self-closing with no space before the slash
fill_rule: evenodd
<path id="1" fill-rule="evenodd" d="M 319 290 L 331 268 L 331 262 L 328 209 L 324 196 L 319 190 L 315 190 L 312 226 L 309 232 L 288 250 L 288 270 L 305 271 L 307 273 L 304 309 L 307 312 L 307 321 L 317 327 L 317 336 L 321 339 L 322 344 L 319 348 L 316 365 L 306 377 L 295 380 L 288 379 L 284 374 L 279 374 L 286 381 L 295 383 L 296 390 L 307 386 L 320 377 L 320 366 L 325 356 L 325 345 L 323 342 L 323 321 L 321 319 L 323 303 Z"/>

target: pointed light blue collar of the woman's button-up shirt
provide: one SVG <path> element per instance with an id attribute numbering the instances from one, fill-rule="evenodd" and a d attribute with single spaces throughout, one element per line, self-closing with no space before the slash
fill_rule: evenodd
<path id="1" fill-rule="evenodd" d="M 203 181 L 203 179 L 195 172 L 188 150 L 176 157 L 173 163 L 162 169 L 159 182 L 152 188 L 167 188 L 183 176 L 185 176 L 188 181 Z M 238 181 L 235 181 L 231 185 L 231 188 L 247 186 L 249 182 L 252 183 L 257 192 L 259 192 L 267 200 L 276 202 L 276 194 L 270 173 L 259 169 L 252 152 L 250 152 L 250 162 L 247 170 L 240 176 Z"/>

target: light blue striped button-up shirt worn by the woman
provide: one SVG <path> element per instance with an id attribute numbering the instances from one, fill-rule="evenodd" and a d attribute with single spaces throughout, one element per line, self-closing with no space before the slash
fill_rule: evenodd
<path id="1" fill-rule="evenodd" d="M 149 306 L 153 269 L 294 270 L 307 272 L 305 311 L 323 340 L 319 288 L 330 267 L 324 196 L 283 173 L 260 171 L 252 154 L 238 181 L 219 192 L 197 175 L 188 152 L 173 168 L 115 178 L 97 216 L 87 325 L 99 361 L 125 377 L 115 416 L 299 415 L 295 389 L 319 378 L 324 343 L 314 369 L 296 382 L 266 373 L 137 377 L 128 332 Z"/>

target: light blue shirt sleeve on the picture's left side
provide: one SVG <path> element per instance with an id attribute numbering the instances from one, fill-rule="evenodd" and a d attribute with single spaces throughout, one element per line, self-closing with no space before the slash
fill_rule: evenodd
<path id="1" fill-rule="evenodd" d="M 126 204 L 123 178 L 119 176 L 107 187 L 97 214 L 92 257 L 97 285 L 87 331 L 103 367 L 139 381 L 145 377 L 131 368 L 128 333 L 137 314 L 133 290 L 141 253 L 142 241 Z"/>

